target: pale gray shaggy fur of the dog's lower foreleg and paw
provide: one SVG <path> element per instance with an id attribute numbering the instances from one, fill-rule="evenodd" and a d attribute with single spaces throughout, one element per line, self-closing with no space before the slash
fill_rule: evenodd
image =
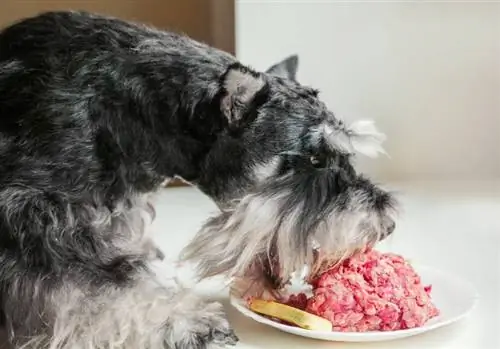
<path id="1" fill-rule="evenodd" d="M 31 336 L 21 348 L 198 348 L 205 338 L 213 345 L 237 340 L 219 303 L 154 277 L 131 288 L 86 290 L 68 280 L 45 297 L 56 319 L 52 334 Z"/>

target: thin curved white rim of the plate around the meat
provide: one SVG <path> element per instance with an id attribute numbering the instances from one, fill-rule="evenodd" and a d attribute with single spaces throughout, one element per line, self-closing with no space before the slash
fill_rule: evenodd
<path id="1" fill-rule="evenodd" d="M 412 263 L 413 264 L 413 263 Z M 415 327 L 415 328 L 409 328 L 409 329 L 404 329 L 404 330 L 397 330 L 397 331 L 368 331 L 368 332 L 341 332 L 341 331 L 312 331 L 312 330 L 306 330 L 300 327 L 295 327 L 295 326 L 290 326 L 287 324 L 282 324 L 276 321 L 273 321 L 271 319 L 268 319 L 258 313 L 253 312 L 250 310 L 248 307 L 243 305 L 243 299 L 241 297 L 238 297 L 234 294 L 229 295 L 229 301 L 232 307 L 234 307 L 236 310 L 238 310 L 239 313 L 241 313 L 245 317 L 249 317 L 252 320 L 268 325 L 270 327 L 273 327 L 275 329 L 278 329 L 282 332 L 294 334 L 294 335 L 299 335 L 302 337 L 308 337 L 308 338 L 315 338 L 315 339 L 322 339 L 322 340 L 327 340 L 327 341 L 338 341 L 339 339 L 334 339 L 334 338 L 328 338 L 328 337 L 335 337 L 339 336 L 342 337 L 342 340 L 353 340 L 356 341 L 356 338 L 360 338 L 363 336 L 366 337 L 372 337 L 372 336 L 377 336 L 377 337 L 387 337 L 387 340 L 390 340 L 391 338 L 402 338 L 402 337 L 409 337 L 412 335 L 417 335 L 420 333 L 432 331 L 444 326 L 448 326 L 452 323 L 458 322 L 468 315 L 476 308 L 477 303 L 480 299 L 480 295 L 477 291 L 477 289 L 473 286 L 473 284 L 465 278 L 462 278 L 460 276 L 457 276 L 456 274 L 453 273 L 448 273 L 444 272 L 441 269 L 430 267 L 427 265 L 423 264 L 413 264 L 413 267 L 420 273 L 422 270 L 430 270 L 435 274 L 441 274 L 441 275 L 446 275 L 448 278 L 453 278 L 456 281 L 459 281 L 461 284 L 463 284 L 464 287 L 467 287 L 468 291 L 470 292 L 471 295 L 471 304 L 467 308 L 466 311 L 452 316 L 450 318 L 444 319 L 442 321 L 438 321 L 429 325 L 424 325 L 420 327 Z M 316 335 L 315 335 L 316 334 Z M 358 340 L 361 341 L 361 340 Z"/>

